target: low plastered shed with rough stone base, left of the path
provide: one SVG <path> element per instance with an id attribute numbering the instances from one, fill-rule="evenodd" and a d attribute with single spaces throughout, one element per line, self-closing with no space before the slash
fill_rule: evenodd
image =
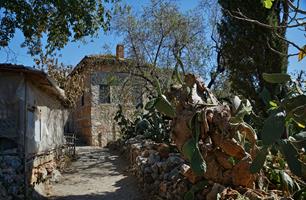
<path id="1" fill-rule="evenodd" d="M 63 90 L 44 72 L 0 64 L 0 186 L 13 199 L 56 168 L 67 116 Z"/>

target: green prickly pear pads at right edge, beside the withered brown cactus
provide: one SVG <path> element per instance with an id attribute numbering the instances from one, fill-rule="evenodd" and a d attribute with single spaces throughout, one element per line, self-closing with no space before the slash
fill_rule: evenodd
<path id="1" fill-rule="evenodd" d="M 287 194 L 295 193 L 295 198 L 301 199 L 306 186 L 302 181 L 306 179 L 305 90 L 286 74 L 263 74 L 263 78 L 280 87 L 280 92 L 287 92 L 283 99 L 265 97 L 265 102 L 270 105 L 269 116 L 261 130 L 261 149 L 250 170 L 256 173 L 263 168 L 276 188 Z"/>

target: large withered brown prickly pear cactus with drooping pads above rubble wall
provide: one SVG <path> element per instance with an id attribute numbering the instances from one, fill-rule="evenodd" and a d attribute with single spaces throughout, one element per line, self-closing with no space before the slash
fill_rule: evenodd
<path id="1" fill-rule="evenodd" d="M 232 107 L 221 104 L 192 74 L 185 76 L 184 83 L 173 86 L 156 108 L 171 114 L 172 140 L 192 172 L 221 184 L 252 187 L 255 175 L 249 169 L 256 154 L 256 134 L 243 122 L 251 111 L 249 103 L 238 98 Z"/>

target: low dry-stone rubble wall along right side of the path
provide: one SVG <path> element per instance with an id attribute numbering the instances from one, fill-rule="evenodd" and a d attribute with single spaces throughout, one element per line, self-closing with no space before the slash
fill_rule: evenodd
<path id="1" fill-rule="evenodd" d="M 263 192 L 246 187 L 233 189 L 212 180 L 204 180 L 203 177 L 201 180 L 193 174 L 180 153 L 171 151 L 166 144 L 145 140 L 141 135 L 124 143 L 110 144 L 109 147 L 127 154 L 131 171 L 152 199 L 182 200 L 190 192 L 194 200 L 286 199 L 281 198 L 277 191 Z M 197 183 L 203 181 L 207 182 L 206 186 L 195 189 Z"/>

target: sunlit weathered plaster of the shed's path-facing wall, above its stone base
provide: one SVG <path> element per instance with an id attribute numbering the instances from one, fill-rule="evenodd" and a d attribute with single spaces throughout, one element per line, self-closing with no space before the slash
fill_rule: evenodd
<path id="1" fill-rule="evenodd" d="M 65 108 L 31 82 L 27 87 L 27 152 L 45 152 L 64 144 Z"/>

